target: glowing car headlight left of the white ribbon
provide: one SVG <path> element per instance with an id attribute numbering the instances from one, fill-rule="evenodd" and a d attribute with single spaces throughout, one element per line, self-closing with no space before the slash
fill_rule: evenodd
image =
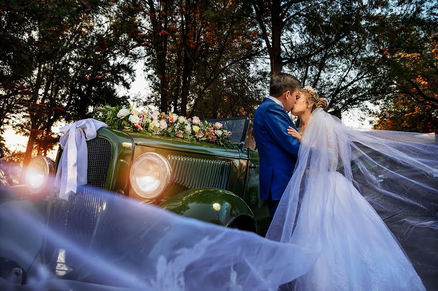
<path id="1" fill-rule="evenodd" d="M 33 158 L 26 170 L 26 184 L 29 190 L 33 193 L 43 190 L 47 186 L 47 181 L 53 172 L 54 162 L 51 159 L 43 156 Z"/>

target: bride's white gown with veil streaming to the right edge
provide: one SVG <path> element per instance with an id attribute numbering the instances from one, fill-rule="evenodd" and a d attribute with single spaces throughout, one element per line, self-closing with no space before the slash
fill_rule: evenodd
<path id="1" fill-rule="evenodd" d="M 322 109 L 311 113 L 266 235 L 319 253 L 291 289 L 424 290 L 397 239 L 365 200 L 388 212 L 400 201 L 436 214 L 435 137 L 419 143 L 400 136 L 346 127 Z M 394 205 L 379 204 L 376 196 L 389 196 Z"/>

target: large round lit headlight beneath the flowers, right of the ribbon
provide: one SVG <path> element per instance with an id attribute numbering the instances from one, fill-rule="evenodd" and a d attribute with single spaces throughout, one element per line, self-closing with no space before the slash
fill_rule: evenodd
<path id="1" fill-rule="evenodd" d="M 132 189 L 138 196 L 145 199 L 160 196 L 169 186 L 171 178 L 170 164 L 157 153 L 139 156 L 129 173 Z"/>

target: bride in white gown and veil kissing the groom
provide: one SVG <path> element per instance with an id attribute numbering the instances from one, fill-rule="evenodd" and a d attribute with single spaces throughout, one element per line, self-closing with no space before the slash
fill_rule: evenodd
<path id="1" fill-rule="evenodd" d="M 292 114 L 302 127 L 288 133 L 301 142 L 299 164 L 267 233 L 319 250 L 293 289 L 425 290 L 396 238 L 355 188 L 351 130 L 326 108 L 309 86 L 296 96 Z"/>

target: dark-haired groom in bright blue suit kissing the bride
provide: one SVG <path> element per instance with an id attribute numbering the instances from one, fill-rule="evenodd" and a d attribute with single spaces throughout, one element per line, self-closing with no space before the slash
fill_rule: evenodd
<path id="1" fill-rule="evenodd" d="M 271 218 L 292 177 L 298 156 L 300 143 L 288 135 L 288 127 L 296 127 L 287 111 L 295 104 L 300 87 L 298 79 L 290 74 L 272 76 L 270 96 L 263 99 L 254 115 L 253 133 L 260 157 L 260 199 L 268 200 Z"/>

